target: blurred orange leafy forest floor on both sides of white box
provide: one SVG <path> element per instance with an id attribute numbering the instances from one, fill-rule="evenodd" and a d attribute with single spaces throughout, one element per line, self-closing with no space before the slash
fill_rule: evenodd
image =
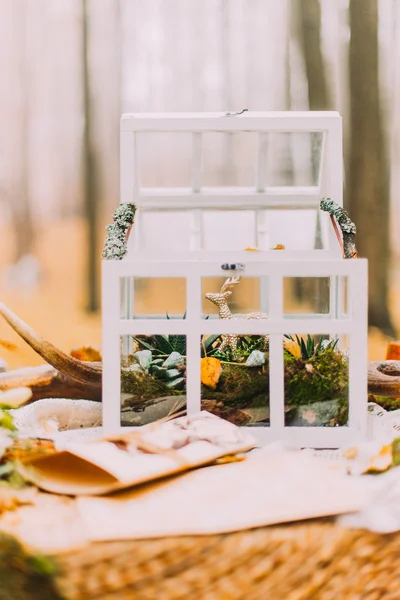
<path id="1" fill-rule="evenodd" d="M 90 315 L 84 310 L 84 241 L 84 225 L 80 220 L 63 220 L 46 226 L 38 233 L 35 249 L 42 269 L 40 285 L 34 291 L 13 290 L 4 281 L 4 268 L 12 258 L 13 237 L 10 231 L 0 230 L 0 300 L 65 351 L 85 344 L 101 345 L 101 316 Z M 399 284 L 391 291 L 391 306 L 400 332 L 398 287 Z M 0 339 L 17 345 L 16 351 L 1 351 L 10 368 L 42 362 L 4 322 L 0 322 Z M 370 359 L 384 358 L 387 342 L 388 338 L 379 331 L 370 331 Z"/>

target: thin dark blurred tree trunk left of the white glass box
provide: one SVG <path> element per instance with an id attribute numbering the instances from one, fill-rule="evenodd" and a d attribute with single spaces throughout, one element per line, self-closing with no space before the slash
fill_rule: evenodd
<path id="1" fill-rule="evenodd" d="M 82 0 L 82 63 L 83 63 L 83 195 L 87 227 L 86 281 L 87 310 L 99 309 L 98 277 L 98 168 L 92 131 L 92 106 L 90 97 L 90 68 L 88 49 L 88 7 Z"/>

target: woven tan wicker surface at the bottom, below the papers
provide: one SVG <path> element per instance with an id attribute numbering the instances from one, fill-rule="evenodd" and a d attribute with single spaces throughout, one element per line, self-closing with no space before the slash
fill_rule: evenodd
<path id="1" fill-rule="evenodd" d="M 57 557 L 70 600 L 400 599 L 400 534 L 332 521 L 227 535 L 108 542 Z"/>

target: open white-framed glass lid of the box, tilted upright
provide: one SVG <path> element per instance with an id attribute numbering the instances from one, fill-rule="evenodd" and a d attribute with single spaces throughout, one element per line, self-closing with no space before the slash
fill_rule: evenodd
<path id="1" fill-rule="evenodd" d="M 320 199 L 342 206 L 336 112 L 171 113 L 121 120 L 130 253 L 338 248 Z"/>

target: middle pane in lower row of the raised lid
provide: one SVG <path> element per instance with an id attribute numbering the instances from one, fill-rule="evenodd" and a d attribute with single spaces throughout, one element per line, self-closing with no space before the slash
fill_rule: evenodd
<path id="1" fill-rule="evenodd" d="M 204 250 L 245 250 L 254 247 L 255 225 L 255 211 L 206 211 L 203 213 L 203 248 Z"/>

